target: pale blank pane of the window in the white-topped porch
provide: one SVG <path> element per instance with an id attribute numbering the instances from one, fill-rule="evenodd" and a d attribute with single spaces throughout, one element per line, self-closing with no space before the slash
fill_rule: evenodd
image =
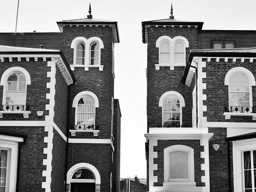
<path id="1" fill-rule="evenodd" d="M 188 179 L 188 153 L 175 151 L 169 154 L 169 178 Z"/>

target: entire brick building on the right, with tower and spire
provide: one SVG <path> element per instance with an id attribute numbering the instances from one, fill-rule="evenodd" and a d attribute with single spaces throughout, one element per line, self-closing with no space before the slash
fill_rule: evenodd
<path id="1" fill-rule="evenodd" d="M 147 191 L 255 191 L 256 31 L 142 22 Z"/>

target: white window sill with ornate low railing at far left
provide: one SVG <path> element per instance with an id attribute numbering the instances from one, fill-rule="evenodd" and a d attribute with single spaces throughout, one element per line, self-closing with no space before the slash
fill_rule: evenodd
<path id="1" fill-rule="evenodd" d="M 0 110 L 0 118 L 3 118 L 4 114 L 23 114 L 24 118 L 29 118 L 29 105 L 20 105 L 20 104 L 6 104 L 2 105 Z"/>

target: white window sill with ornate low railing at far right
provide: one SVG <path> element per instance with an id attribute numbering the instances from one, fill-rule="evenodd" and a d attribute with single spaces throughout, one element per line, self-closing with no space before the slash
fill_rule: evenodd
<path id="1" fill-rule="evenodd" d="M 256 113 L 254 109 L 250 106 L 224 106 L 225 112 L 223 116 L 225 119 L 230 119 L 231 116 L 239 116 L 239 117 L 252 117 L 252 120 L 256 120 Z"/>

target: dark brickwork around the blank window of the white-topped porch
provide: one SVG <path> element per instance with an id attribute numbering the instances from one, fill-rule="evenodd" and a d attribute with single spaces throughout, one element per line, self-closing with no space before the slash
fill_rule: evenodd
<path id="1" fill-rule="evenodd" d="M 163 186 L 164 182 L 164 148 L 172 145 L 186 145 L 194 149 L 194 166 L 195 166 L 195 182 L 197 186 L 204 186 L 201 182 L 201 176 L 204 175 L 201 170 L 201 163 L 203 159 L 200 156 L 202 147 L 200 140 L 158 140 L 157 146 L 154 146 L 154 152 L 157 152 L 157 158 L 154 158 L 154 163 L 157 164 L 158 169 L 154 170 L 154 176 L 158 176 L 158 182 L 154 186 Z"/>

